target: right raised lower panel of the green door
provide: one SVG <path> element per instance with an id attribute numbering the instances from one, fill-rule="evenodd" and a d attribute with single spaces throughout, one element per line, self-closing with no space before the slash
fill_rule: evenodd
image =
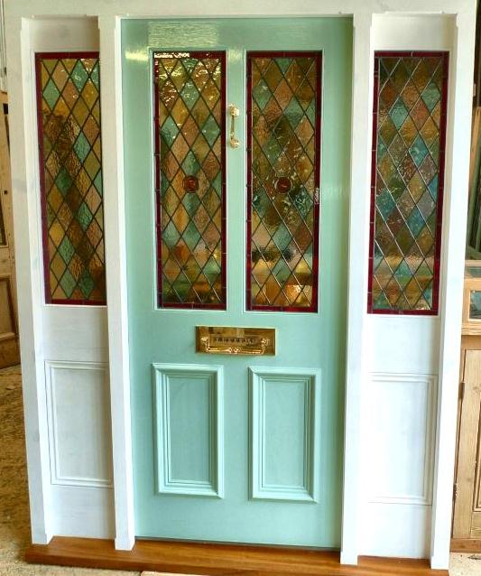
<path id="1" fill-rule="evenodd" d="M 315 502 L 320 371 L 251 368 L 250 375 L 252 497 Z"/>

